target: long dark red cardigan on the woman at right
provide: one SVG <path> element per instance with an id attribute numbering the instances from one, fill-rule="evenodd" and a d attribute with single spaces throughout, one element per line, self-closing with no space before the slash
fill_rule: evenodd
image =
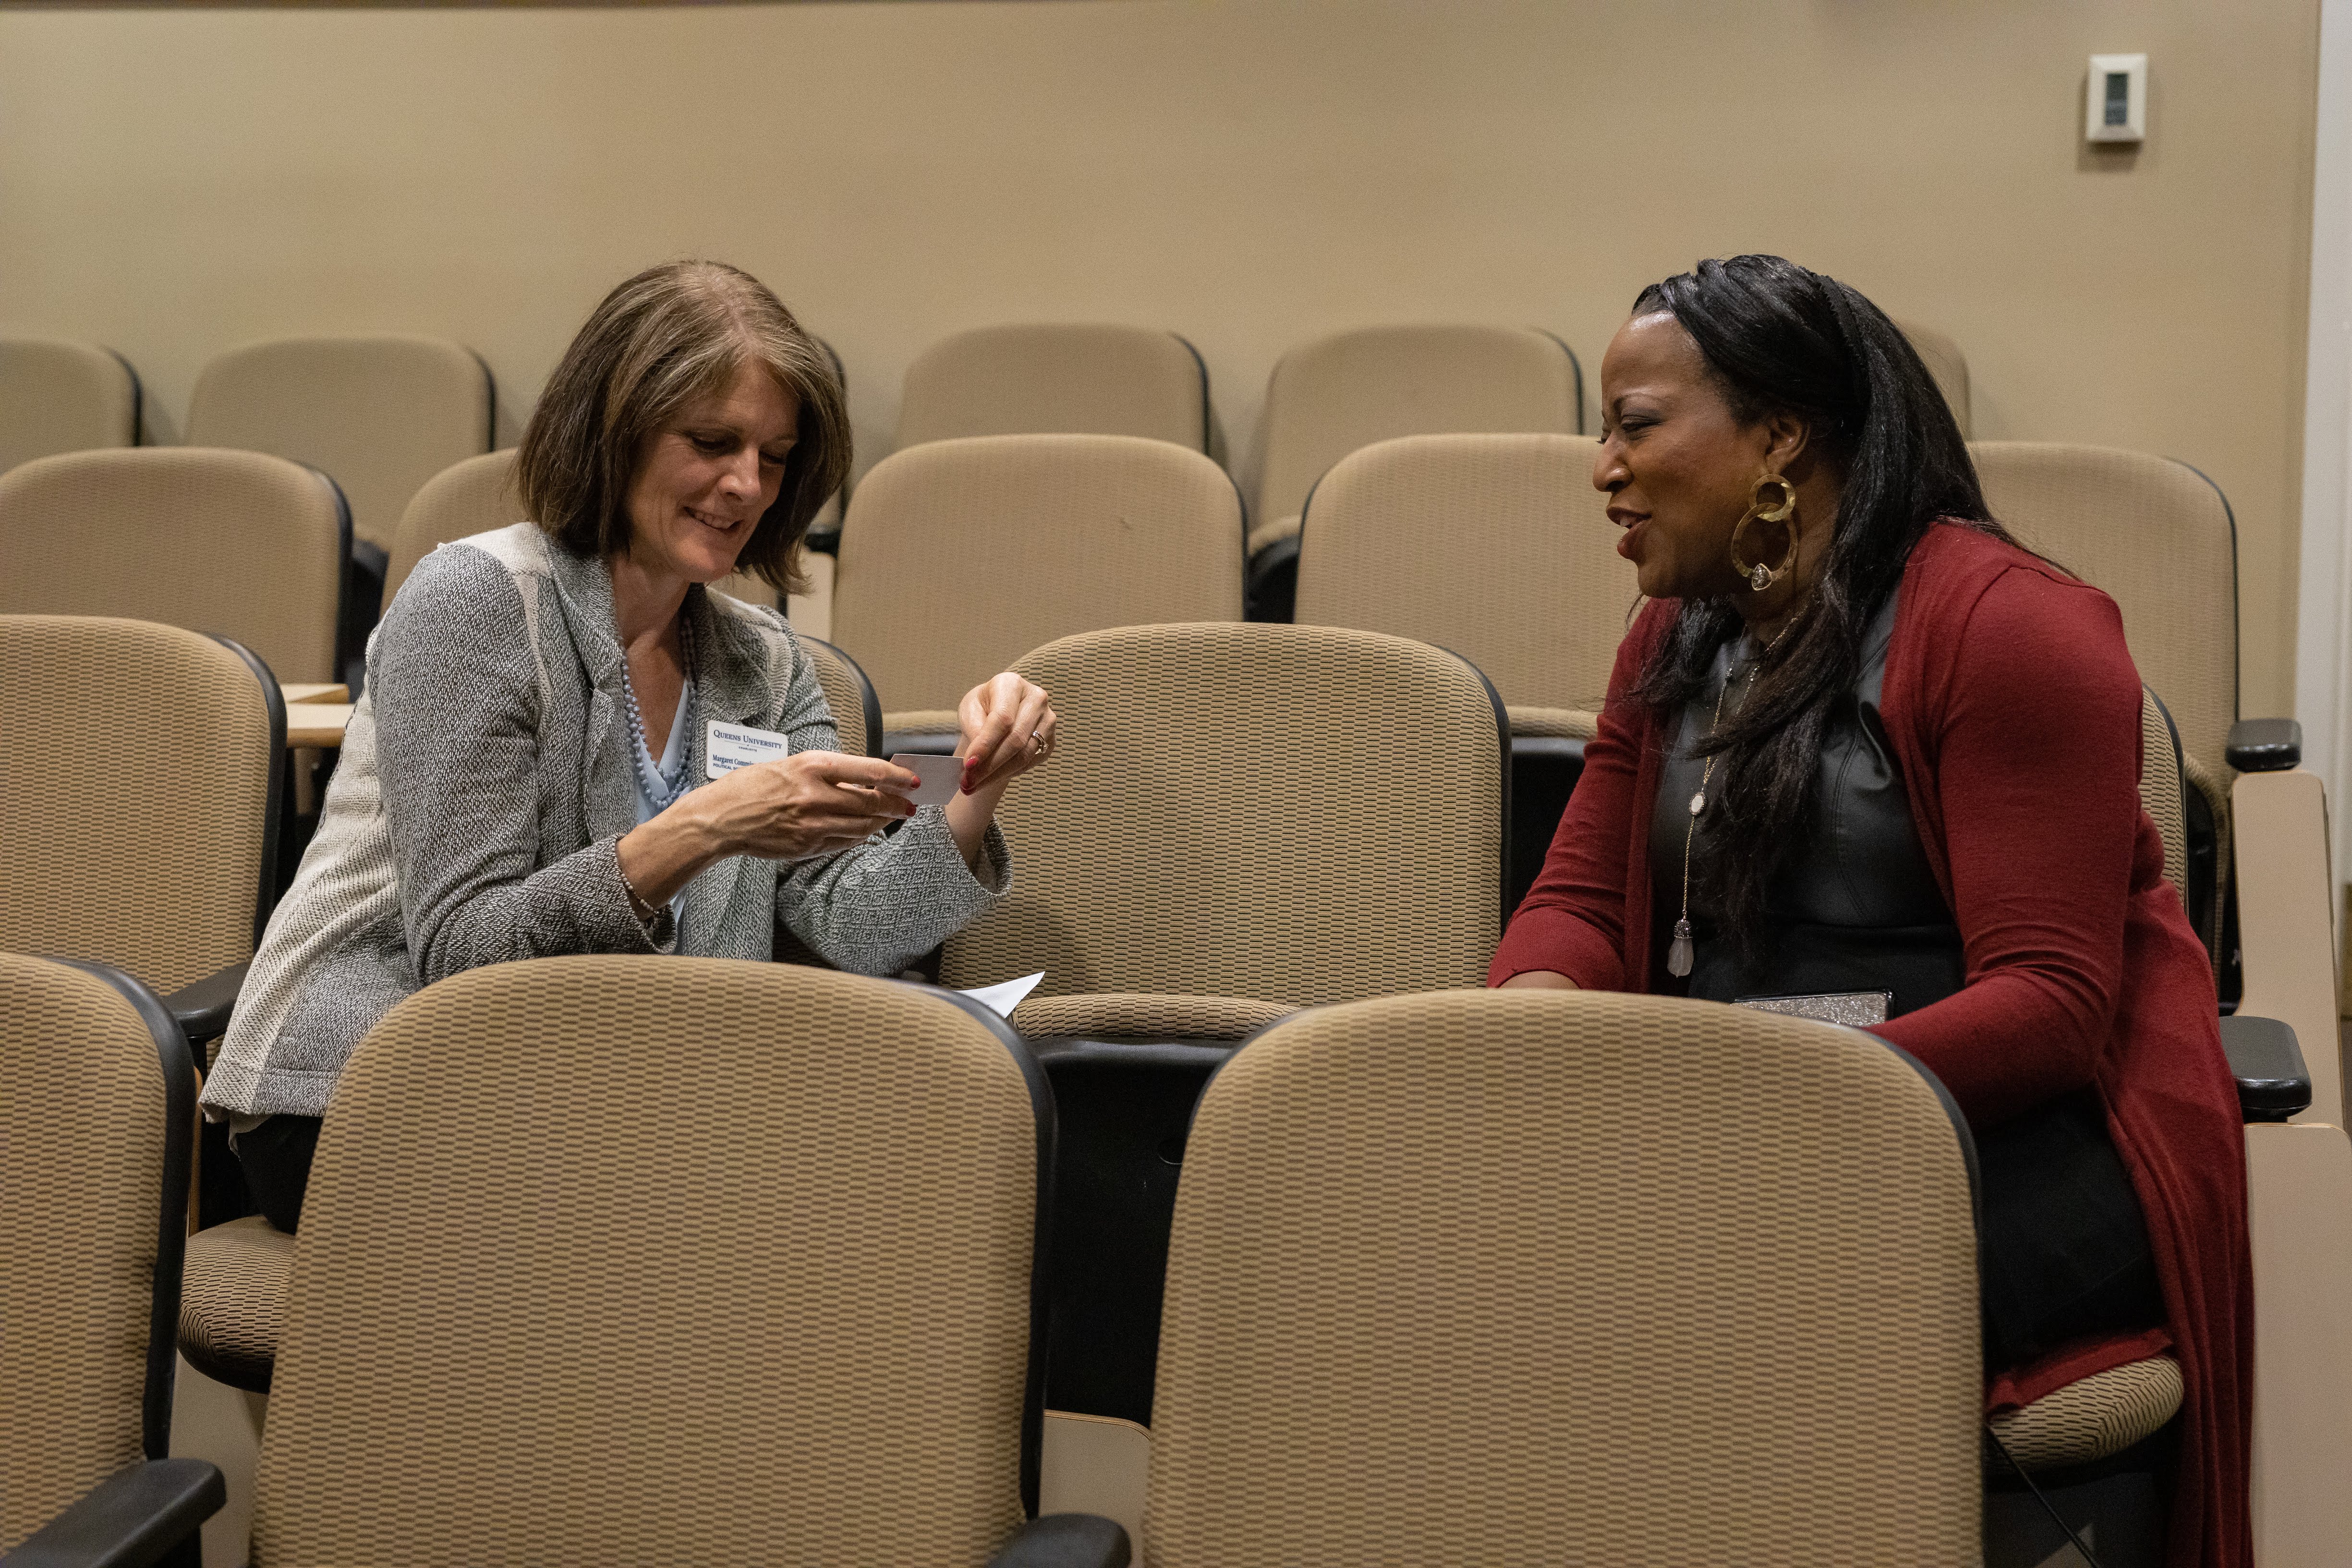
<path id="1" fill-rule="evenodd" d="M 1976 529 L 1912 550 L 1882 715 L 1912 820 L 1959 922 L 1966 985 L 1879 1025 L 1973 1126 L 2096 1084 L 2147 1213 L 2185 1443 L 2173 1568 L 2253 1561 L 2253 1272 L 2246 1143 L 2213 978 L 2140 809 L 2140 677 L 2114 602 Z M 1646 990 L 1649 818 L 1665 719 L 1628 693 L 1679 604 L 1651 602 L 1618 649 L 1599 733 L 1559 832 L 1486 976 Z M 1994 1382 L 1994 1403 L 2145 1354 L 2074 1347 Z"/>

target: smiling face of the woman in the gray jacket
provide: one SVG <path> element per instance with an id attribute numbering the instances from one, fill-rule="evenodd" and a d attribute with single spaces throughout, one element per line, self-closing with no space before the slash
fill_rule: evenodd
<path id="1" fill-rule="evenodd" d="M 783 489 L 800 409 L 757 362 L 652 435 L 628 487 L 628 559 L 654 581 L 717 583 Z"/>

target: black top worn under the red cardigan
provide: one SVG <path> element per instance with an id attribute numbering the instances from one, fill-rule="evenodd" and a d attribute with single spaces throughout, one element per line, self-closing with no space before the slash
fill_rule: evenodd
<path id="1" fill-rule="evenodd" d="M 1898 1016 L 1962 987 L 1966 961 L 1959 926 L 1919 846 L 1910 797 L 1879 719 L 1893 628 L 1896 604 L 1889 597 L 1863 635 L 1863 670 L 1853 693 L 1825 726 L 1813 839 L 1771 882 L 1764 903 L 1769 933 L 1755 964 L 1745 964 L 1738 947 L 1719 933 L 1717 910 L 1698 893 L 1712 813 L 1700 813 L 1691 832 L 1691 795 L 1705 773 L 1705 759 L 1691 750 L 1705 741 L 1726 679 L 1731 691 L 1724 696 L 1724 717 L 1748 696 L 1757 644 L 1738 637 L 1715 654 L 1708 689 L 1682 710 L 1675 743 L 1658 769 L 1658 804 L 1649 825 L 1651 907 L 1658 919 L 1651 990 L 1708 1001 L 1891 990 L 1893 1004 L 1886 1011 Z M 1684 835 L 1691 835 L 1696 954 L 1689 980 L 1675 980 L 1665 973 L 1665 952 L 1682 914 Z"/>

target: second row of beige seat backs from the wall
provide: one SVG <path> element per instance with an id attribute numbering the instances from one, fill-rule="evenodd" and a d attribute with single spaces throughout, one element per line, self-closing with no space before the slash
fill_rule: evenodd
<path id="1" fill-rule="evenodd" d="M 2237 712 L 2237 545 L 2227 501 L 2164 458 L 2027 442 L 1973 447 L 1997 517 L 2105 588 L 2145 679 L 2180 722 L 2197 856 L 2185 893 L 2227 954 L 2225 743 Z M 1494 679 L 1515 752 L 1524 891 L 1576 783 L 1635 604 L 1581 435 L 1416 435 L 1341 458 L 1282 541 L 1301 623 L 1435 642 Z M 397 592 L 435 545 L 503 527 L 513 451 L 421 487 L 388 536 Z M 0 475 L 0 611 L 108 614 L 223 632 L 285 682 L 358 686 L 353 574 L 332 482 L 240 451 L 82 451 Z M 884 750 L 953 745 L 955 701 L 1023 649 L 1103 625 L 1235 621 L 1244 524 L 1204 454 L 1131 435 L 922 442 L 858 484 L 802 632 L 880 691 Z M 774 602 L 748 578 L 729 592 Z M 2223 964 L 2230 985 L 2232 966 Z"/>

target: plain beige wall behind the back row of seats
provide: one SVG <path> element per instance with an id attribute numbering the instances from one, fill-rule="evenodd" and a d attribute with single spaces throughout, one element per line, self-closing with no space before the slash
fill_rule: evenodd
<path id="1" fill-rule="evenodd" d="M 2237 505 L 2251 712 L 2291 696 L 2317 0 L 1063 0 L 0 14 L 0 327 L 127 353 L 169 428 L 252 336 L 437 331 L 520 414 L 597 294 L 767 277 L 849 362 L 1000 320 L 1209 360 L 1545 324 L 1776 249 L 1955 334 L 1983 437 L 2187 458 Z M 2082 148 L 2089 52 L 2150 143 Z"/>

